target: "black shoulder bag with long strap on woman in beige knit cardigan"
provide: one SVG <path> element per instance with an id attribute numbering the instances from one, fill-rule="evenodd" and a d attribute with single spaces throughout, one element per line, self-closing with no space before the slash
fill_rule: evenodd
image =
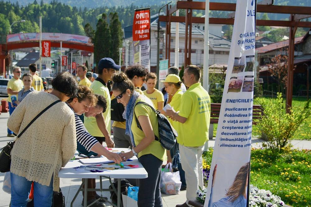
<path id="1" fill-rule="evenodd" d="M 54 104 L 57 104 L 58 102 L 61 102 L 61 100 L 55 101 L 52 104 L 50 104 L 48 107 L 43 109 L 26 127 L 25 129 L 17 136 L 17 138 L 20 138 L 20 136 L 30 127 L 30 125 L 37 119 L 39 116 L 41 116 L 46 110 L 51 108 Z M 0 172 L 6 173 L 10 171 L 11 167 L 11 150 L 13 148 L 15 141 L 8 142 L 5 147 L 3 147 L 0 153 Z"/>

